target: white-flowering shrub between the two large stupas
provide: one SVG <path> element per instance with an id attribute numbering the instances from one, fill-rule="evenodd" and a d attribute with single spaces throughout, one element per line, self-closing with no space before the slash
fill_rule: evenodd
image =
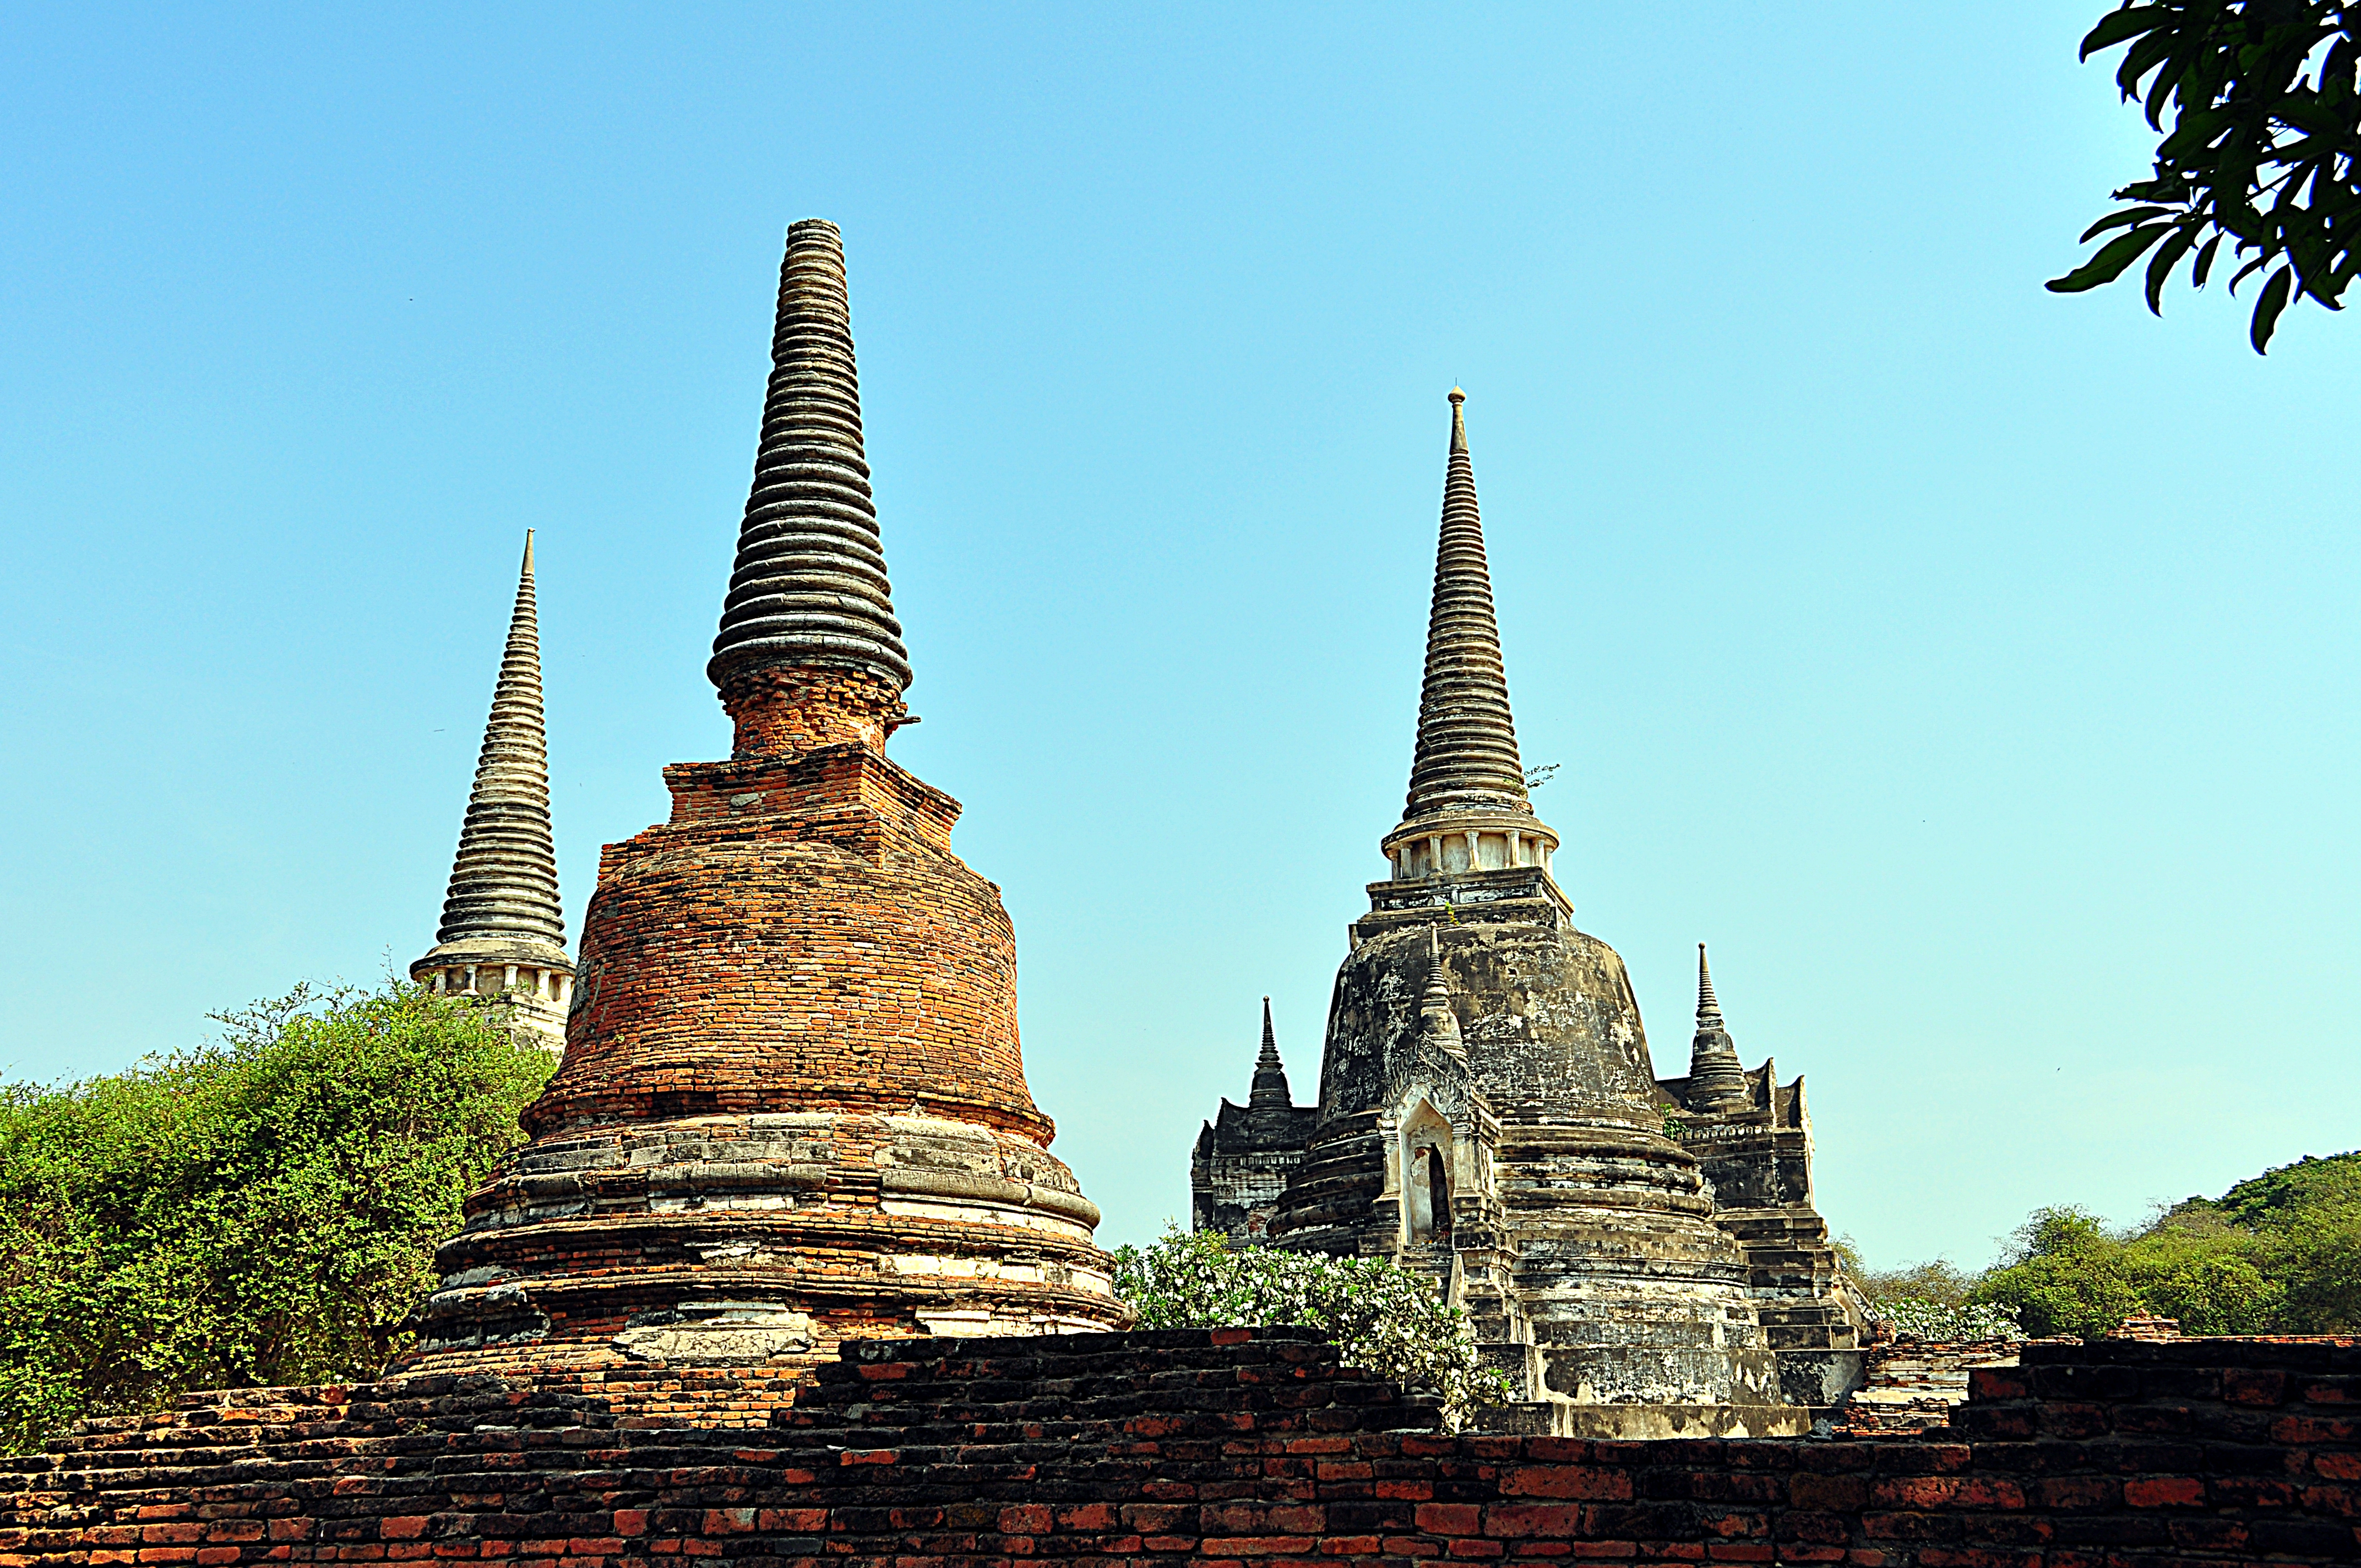
<path id="1" fill-rule="evenodd" d="M 1509 1398 L 1509 1379 L 1478 1363 L 1466 1313 L 1384 1259 L 1230 1247 L 1166 1223 L 1155 1244 L 1114 1249 L 1114 1294 L 1143 1329 L 1315 1327 L 1346 1365 L 1438 1393 L 1454 1426 Z"/>

